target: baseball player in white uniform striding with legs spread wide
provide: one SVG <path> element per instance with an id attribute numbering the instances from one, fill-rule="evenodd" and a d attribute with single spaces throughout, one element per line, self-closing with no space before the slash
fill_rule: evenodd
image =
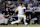
<path id="1" fill-rule="evenodd" d="M 15 10 L 15 12 L 18 11 L 18 20 L 17 21 L 13 21 L 11 22 L 11 24 L 15 24 L 15 23 L 20 23 L 20 21 L 22 20 L 22 18 L 24 19 L 24 24 L 27 25 L 28 23 L 26 22 L 26 15 L 25 13 L 25 9 L 26 7 L 24 7 L 25 4 L 21 4 L 21 6 L 18 6 L 17 9 Z"/>

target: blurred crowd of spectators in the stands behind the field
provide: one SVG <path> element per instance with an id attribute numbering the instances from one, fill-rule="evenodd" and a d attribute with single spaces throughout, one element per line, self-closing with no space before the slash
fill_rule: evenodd
<path id="1" fill-rule="evenodd" d="M 15 7 L 25 3 L 27 10 L 40 10 L 40 2 L 38 0 L 18 0 L 18 1 L 3 1 L 1 2 L 1 9 L 5 10 L 6 7 L 9 7 L 11 10 Z"/>

